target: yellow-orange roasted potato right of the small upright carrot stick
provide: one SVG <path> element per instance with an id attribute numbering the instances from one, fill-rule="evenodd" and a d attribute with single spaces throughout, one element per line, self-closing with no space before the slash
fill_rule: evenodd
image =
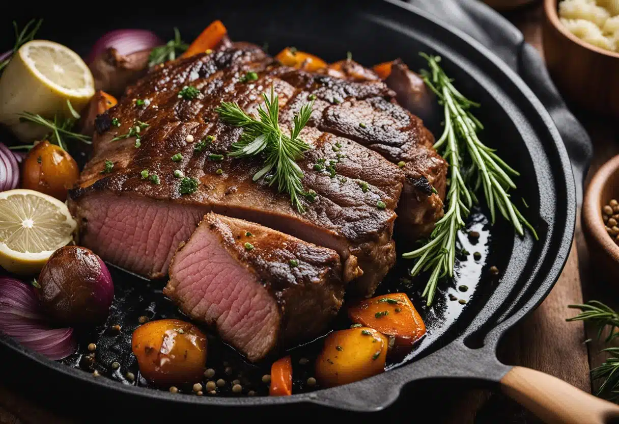
<path id="1" fill-rule="evenodd" d="M 384 371 L 389 340 L 370 327 L 329 334 L 316 359 L 316 379 L 323 387 L 340 386 Z"/>

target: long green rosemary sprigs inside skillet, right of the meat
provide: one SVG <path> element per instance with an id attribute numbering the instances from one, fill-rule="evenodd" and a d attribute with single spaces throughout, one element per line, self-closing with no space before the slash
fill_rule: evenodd
<path id="1" fill-rule="evenodd" d="M 509 174 L 519 175 L 518 172 L 500 159 L 495 149 L 488 148 L 477 137 L 477 131 L 482 130 L 483 125 L 470 109 L 479 105 L 464 97 L 453 86 L 453 80 L 439 66 L 439 56 L 420 55 L 428 61 L 430 67 L 430 71 L 422 70 L 423 80 L 435 92 L 444 108 L 443 134 L 434 147 L 449 163 L 451 172 L 443 218 L 436 223 L 430 238 L 422 247 L 402 255 L 418 259 L 410 272 L 412 276 L 430 272 L 422 294 L 430 306 L 439 278 L 453 276 L 457 233 L 464 227 L 470 208 L 478 203 L 475 192 L 480 186 L 483 186 L 491 223 L 495 223 L 496 206 L 520 236 L 524 235 L 523 225 L 530 229 L 535 239 L 537 233 L 509 198 L 509 189 L 516 188 Z M 475 179 L 474 183 L 471 183 L 472 179 Z"/>

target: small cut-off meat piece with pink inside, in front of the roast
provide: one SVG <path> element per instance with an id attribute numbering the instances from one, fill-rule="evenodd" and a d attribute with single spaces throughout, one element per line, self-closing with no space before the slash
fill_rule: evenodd
<path id="1" fill-rule="evenodd" d="M 176 252 L 164 293 L 256 361 L 321 334 L 342 305 L 340 273 L 334 250 L 209 213 Z"/>

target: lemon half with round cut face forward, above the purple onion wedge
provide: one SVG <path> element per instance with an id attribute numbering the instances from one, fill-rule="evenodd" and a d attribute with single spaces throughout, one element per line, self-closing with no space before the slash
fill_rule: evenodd
<path id="1" fill-rule="evenodd" d="M 0 192 L 0 265 L 40 272 L 54 250 L 69 244 L 76 221 L 63 202 L 34 190 Z"/>

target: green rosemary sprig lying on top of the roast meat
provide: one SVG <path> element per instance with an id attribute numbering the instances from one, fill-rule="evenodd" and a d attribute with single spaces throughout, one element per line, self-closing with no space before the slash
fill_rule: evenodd
<path id="1" fill-rule="evenodd" d="M 277 184 L 280 192 L 290 194 L 290 203 L 297 207 L 301 213 L 305 211 L 300 195 L 306 195 L 301 184 L 303 170 L 297 165 L 298 159 L 303 157 L 303 152 L 311 149 L 309 144 L 299 138 L 301 130 L 311 117 L 314 102 L 309 102 L 301 107 L 300 112 L 294 117 L 294 125 L 290 136 L 282 133 L 279 127 L 279 97 L 274 94 L 271 87 L 271 95 L 262 94 L 265 108 L 258 107 L 260 120 L 251 117 L 243 111 L 238 104 L 222 102 L 215 109 L 220 119 L 234 126 L 243 128 L 243 135 L 238 142 L 232 144 L 231 157 L 250 157 L 263 153 L 264 167 L 256 172 L 253 180 L 259 180 L 273 170 L 269 185 Z"/>

